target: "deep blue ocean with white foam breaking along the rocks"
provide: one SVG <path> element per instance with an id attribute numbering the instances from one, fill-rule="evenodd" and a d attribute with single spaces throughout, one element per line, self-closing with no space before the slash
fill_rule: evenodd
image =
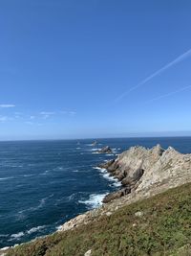
<path id="1" fill-rule="evenodd" d="M 0 248 L 53 233 L 120 186 L 97 164 L 131 146 L 191 152 L 191 138 L 0 142 Z M 113 154 L 98 154 L 108 145 Z"/>

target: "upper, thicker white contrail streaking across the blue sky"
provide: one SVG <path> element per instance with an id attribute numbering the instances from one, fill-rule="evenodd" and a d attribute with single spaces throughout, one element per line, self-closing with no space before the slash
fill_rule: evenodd
<path id="1" fill-rule="evenodd" d="M 136 89 L 138 89 L 138 87 L 142 86 L 143 84 L 145 84 L 147 81 L 151 81 L 152 79 L 154 79 L 155 77 L 157 77 L 159 74 L 161 74 L 162 72 L 164 72 L 165 70 L 169 69 L 170 67 L 180 63 L 182 60 L 184 60 L 185 58 L 189 58 L 191 57 L 191 49 L 188 50 L 187 52 L 185 52 L 184 54 L 180 55 L 180 57 L 175 58 L 173 61 L 171 61 L 170 63 L 166 64 L 165 66 L 163 66 L 162 68 L 160 68 L 158 71 L 156 71 L 155 73 L 153 73 L 152 75 L 150 75 L 149 77 L 147 77 L 145 80 L 138 82 L 138 84 L 132 88 L 130 88 L 129 90 L 125 91 L 124 93 L 122 93 L 121 95 L 119 95 L 115 102 L 118 102 L 119 100 L 121 100 L 123 97 L 125 97 L 126 95 L 128 95 L 131 91 L 134 91 Z"/>

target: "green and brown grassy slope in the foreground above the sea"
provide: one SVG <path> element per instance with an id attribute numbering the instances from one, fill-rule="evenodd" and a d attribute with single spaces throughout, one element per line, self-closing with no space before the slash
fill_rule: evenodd
<path id="1" fill-rule="evenodd" d="M 137 217 L 136 212 L 142 216 Z M 17 246 L 8 255 L 191 255 L 191 184 L 124 206 L 110 216 Z"/>

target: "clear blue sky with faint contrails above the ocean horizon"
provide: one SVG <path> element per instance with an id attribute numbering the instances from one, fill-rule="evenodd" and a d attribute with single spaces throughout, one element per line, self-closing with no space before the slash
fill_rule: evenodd
<path id="1" fill-rule="evenodd" d="M 1 0 L 0 139 L 191 135 L 190 12 Z"/>

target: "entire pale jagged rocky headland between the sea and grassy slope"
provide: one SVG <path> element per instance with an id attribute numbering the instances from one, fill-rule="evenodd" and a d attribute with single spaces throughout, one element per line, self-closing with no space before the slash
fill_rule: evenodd
<path id="1" fill-rule="evenodd" d="M 103 215 L 110 216 L 124 205 L 191 182 L 191 154 L 182 154 L 171 147 L 164 151 L 159 145 L 150 150 L 130 148 L 118 155 L 117 159 L 99 167 L 117 176 L 124 184 L 122 189 L 107 195 L 104 201 L 108 203 L 100 208 L 66 222 L 61 230 L 73 229 L 98 220 Z"/>

